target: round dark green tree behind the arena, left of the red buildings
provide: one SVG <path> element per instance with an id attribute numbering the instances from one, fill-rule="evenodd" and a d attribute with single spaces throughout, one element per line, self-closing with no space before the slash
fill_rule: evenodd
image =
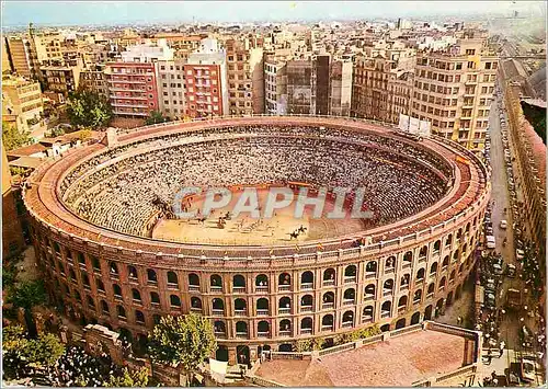
<path id="1" fill-rule="evenodd" d="M 105 96 L 81 90 L 69 95 L 67 115 L 73 126 L 98 129 L 111 122 L 112 106 Z"/>

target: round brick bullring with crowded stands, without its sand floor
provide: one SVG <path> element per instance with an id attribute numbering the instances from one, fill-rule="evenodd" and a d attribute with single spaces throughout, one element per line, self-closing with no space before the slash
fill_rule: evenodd
<path id="1" fill-rule="evenodd" d="M 475 265 L 489 172 L 452 141 L 308 116 L 173 123 L 119 130 L 109 140 L 41 167 L 24 202 L 52 297 L 72 319 L 103 323 L 136 342 L 145 342 L 160 316 L 190 311 L 210 318 L 218 356 L 231 363 L 372 323 L 401 328 L 450 305 Z M 272 149 L 276 163 L 250 175 L 253 158 L 263 158 L 258 148 Z M 302 172 L 287 176 L 296 156 Z M 231 158 L 241 163 L 219 174 L 215 161 Z M 359 169 L 345 174 L 349 169 L 332 163 Z M 203 174 L 193 175 L 194 168 Z M 378 181 L 359 175 L 367 169 Z M 159 172 L 235 186 L 365 183 L 378 217 L 362 228 L 327 228 L 298 244 L 155 238 L 162 214 L 151 205 L 150 187 Z M 181 176 L 153 196 L 169 197 L 186 183 Z M 142 186 L 128 187 L 132 180 Z"/>

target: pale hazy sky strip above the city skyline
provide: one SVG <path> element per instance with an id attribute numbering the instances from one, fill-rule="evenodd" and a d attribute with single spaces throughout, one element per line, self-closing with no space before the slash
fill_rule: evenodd
<path id="1" fill-rule="evenodd" d="M 540 13 L 544 1 L 2 1 L 4 26 Z"/>

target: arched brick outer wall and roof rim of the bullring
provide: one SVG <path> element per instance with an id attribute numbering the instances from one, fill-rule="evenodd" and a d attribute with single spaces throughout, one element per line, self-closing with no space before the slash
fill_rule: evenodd
<path id="1" fill-rule="evenodd" d="M 393 137 L 362 121 L 251 117 L 144 127 L 118 134 L 117 144 L 212 126 L 278 123 Z M 331 336 L 372 323 L 389 329 L 416 323 L 460 295 L 475 266 L 490 198 L 489 173 L 456 144 L 438 138 L 420 144 L 454 165 L 452 190 L 418 215 L 364 232 L 367 242 L 359 247 L 342 245 L 338 238 L 321 242 L 322 251 L 317 251 L 318 242 L 304 242 L 290 253 L 287 248 L 214 248 L 93 226 L 64 206 L 58 184 L 82 159 L 105 151 L 102 144 L 76 149 L 38 169 L 24 201 L 48 289 L 69 317 L 144 341 L 162 314 L 202 313 L 212 319 L 219 345 L 235 363 L 237 355 L 249 361 L 265 346 L 277 350 L 298 339 Z"/>

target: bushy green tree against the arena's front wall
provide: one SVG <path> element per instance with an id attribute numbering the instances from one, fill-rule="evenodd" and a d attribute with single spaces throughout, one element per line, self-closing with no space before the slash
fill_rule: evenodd
<path id="1" fill-rule="evenodd" d="M 192 374 L 217 348 L 213 325 L 206 318 L 190 313 L 163 317 L 149 333 L 149 353 L 161 364 L 182 364 Z"/>

